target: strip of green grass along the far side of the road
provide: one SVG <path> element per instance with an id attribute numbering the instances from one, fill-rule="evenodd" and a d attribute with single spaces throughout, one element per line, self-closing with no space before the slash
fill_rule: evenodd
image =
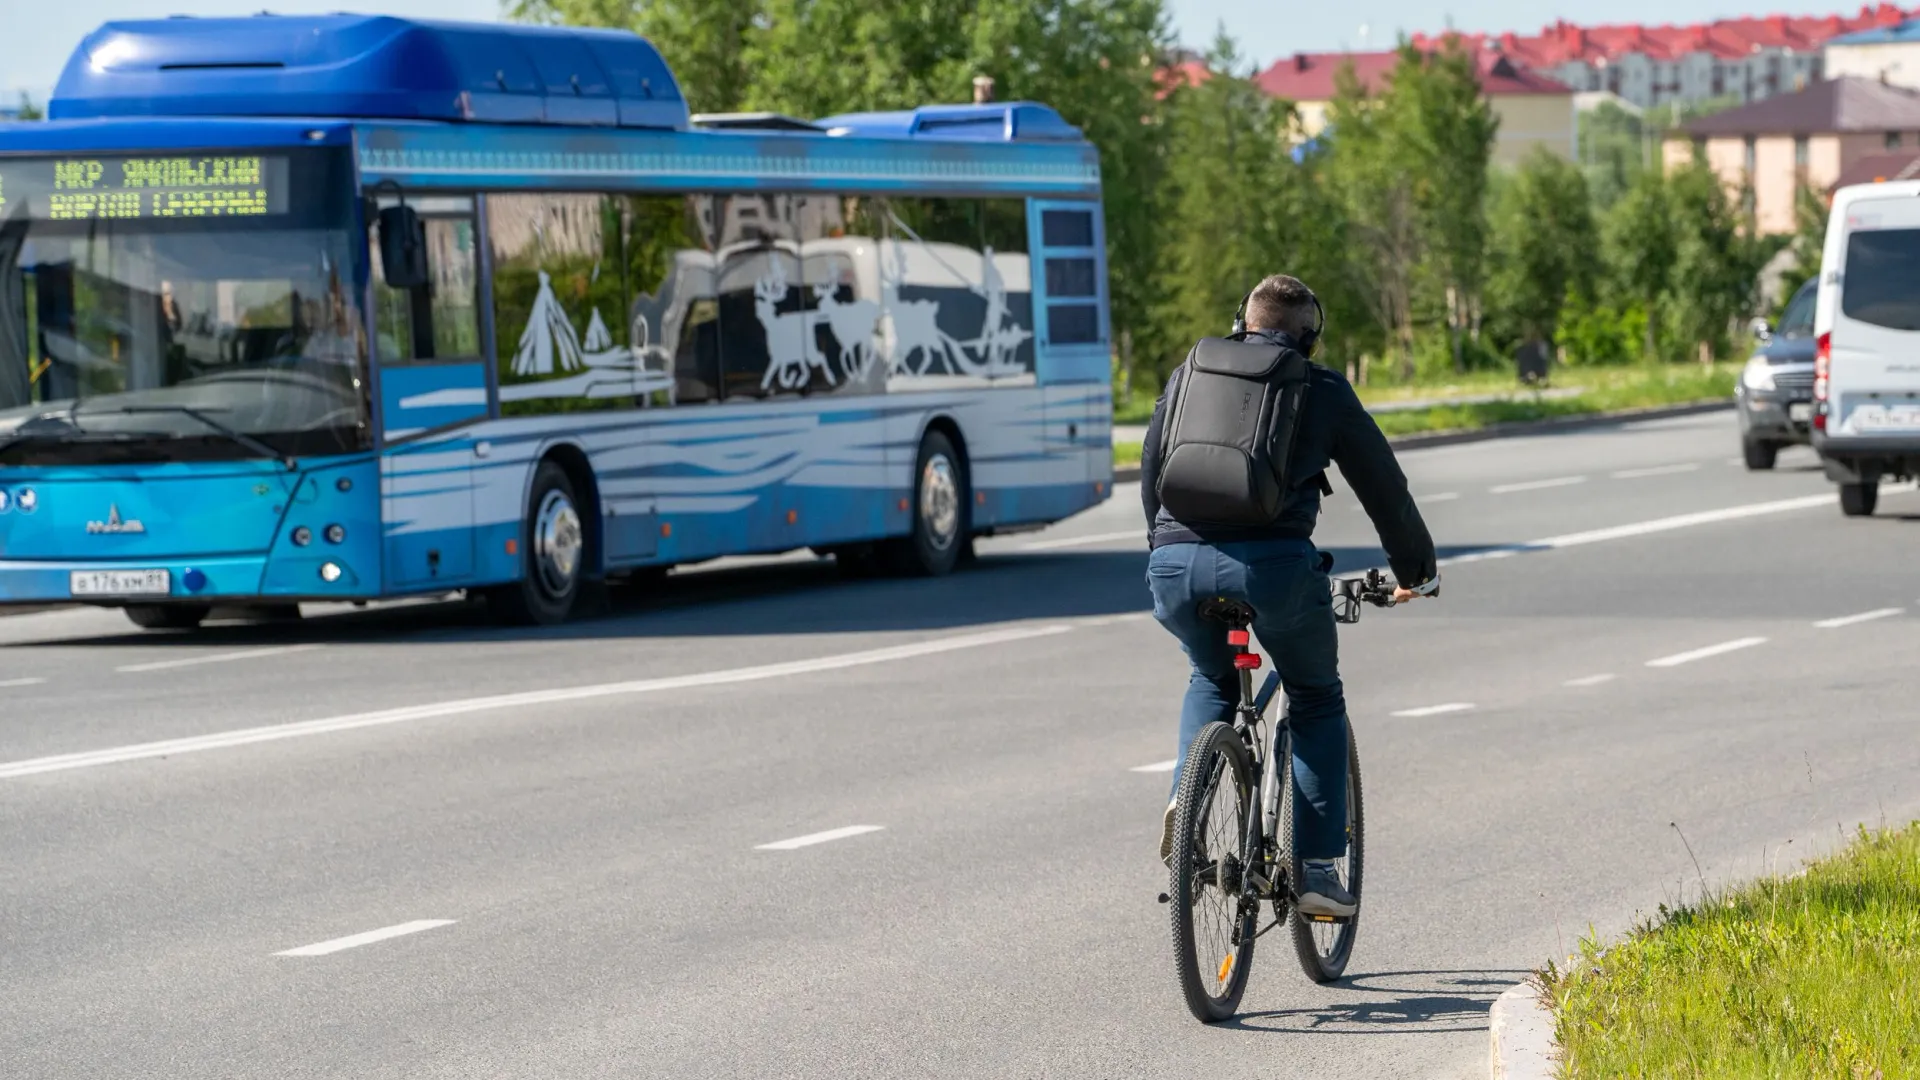
<path id="1" fill-rule="evenodd" d="M 1519 392 L 1517 396 L 1501 402 L 1405 409 L 1398 413 L 1379 413 L 1375 419 L 1380 421 L 1380 430 L 1386 434 L 1473 430 L 1498 423 L 1544 421 L 1582 413 L 1609 413 L 1615 409 L 1728 400 L 1734 396 L 1736 379 L 1740 379 L 1738 363 L 1716 363 L 1713 367 L 1672 363 L 1659 367 L 1636 365 L 1572 371 L 1563 373 L 1553 382 L 1555 386 L 1578 386 L 1580 392 L 1571 398 L 1542 398 L 1538 394 Z"/>

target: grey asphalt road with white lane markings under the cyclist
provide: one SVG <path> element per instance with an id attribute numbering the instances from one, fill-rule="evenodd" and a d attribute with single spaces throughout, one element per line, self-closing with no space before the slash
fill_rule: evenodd
<path id="1" fill-rule="evenodd" d="M 1920 813 L 1920 496 L 1843 521 L 1732 423 L 1404 455 L 1455 561 L 1342 630 L 1352 978 L 1269 938 L 1219 1028 L 1154 901 L 1133 488 L 945 580 L 728 565 L 559 630 L 0 619 L 0 1074 L 1484 1074 L 1590 928 Z M 1319 540 L 1379 557 L 1344 492 Z"/>

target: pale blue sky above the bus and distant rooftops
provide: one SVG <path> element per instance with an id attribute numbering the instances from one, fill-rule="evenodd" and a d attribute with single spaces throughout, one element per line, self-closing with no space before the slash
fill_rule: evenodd
<path id="1" fill-rule="evenodd" d="M 885 0 L 876 0 L 885 2 Z M 1757 2 L 1757 0 L 1749 0 Z M 1914 2 L 1914 0 L 1907 0 Z M 1277 0 L 1167 0 L 1173 29 L 1187 44 L 1204 48 L 1225 25 L 1240 54 L 1261 65 L 1309 50 L 1384 48 L 1398 33 L 1517 31 L 1530 33 L 1553 19 L 1576 23 L 1692 23 L 1732 15 L 1826 15 L 1855 12 L 1860 0 L 1778 0 L 1784 6 L 1741 6 L 1740 0 L 1352 0 L 1302 4 Z M 338 12 L 351 0 L 0 0 L 0 94 L 8 104 L 21 90 L 44 102 L 73 46 L 100 23 L 150 19 L 171 13 L 252 15 L 261 8 L 278 13 Z M 436 19 L 493 19 L 497 0 L 380 0 L 359 10 Z M 668 63 L 672 58 L 666 58 Z"/>

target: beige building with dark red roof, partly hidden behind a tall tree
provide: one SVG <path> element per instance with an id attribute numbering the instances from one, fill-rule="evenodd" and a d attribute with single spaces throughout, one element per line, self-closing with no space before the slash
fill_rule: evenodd
<path id="1" fill-rule="evenodd" d="M 1500 117 L 1494 163 L 1519 165 L 1536 146 L 1546 146 L 1561 158 L 1574 158 L 1578 129 L 1572 90 L 1490 52 L 1478 52 L 1475 60 L 1480 90 Z M 1380 90 L 1396 63 L 1400 63 L 1398 52 L 1302 52 L 1275 61 L 1256 77 L 1256 83 L 1275 98 L 1292 102 L 1300 115 L 1300 136 L 1313 138 L 1327 129 L 1327 110 L 1332 106 L 1334 81 L 1342 67 L 1352 65 L 1354 77 L 1363 86 Z"/>

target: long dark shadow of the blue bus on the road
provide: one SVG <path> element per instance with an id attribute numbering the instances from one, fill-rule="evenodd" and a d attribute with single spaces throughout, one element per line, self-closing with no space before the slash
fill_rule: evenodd
<path id="1" fill-rule="evenodd" d="M 1473 548 L 1478 550 L 1478 548 Z M 1380 565 L 1377 548 L 1329 548 L 1334 573 Z M 1469 552 L 1448 548 L 1442 555 Z M 463 598 L 323 609 L 298 621 L 209 623 L 192 632 L 71 636 L 33 646 L 271 648 L 286 644 L 622 640 L 956 630 L 1025 619 L 1148 611 L 1146 550 L 996 552 L 945 578 L 849 580 L 831 559 L 685 569 L 647 584 L 612 584 L 599 613 L 563 626 L 492 625 Z"/>

